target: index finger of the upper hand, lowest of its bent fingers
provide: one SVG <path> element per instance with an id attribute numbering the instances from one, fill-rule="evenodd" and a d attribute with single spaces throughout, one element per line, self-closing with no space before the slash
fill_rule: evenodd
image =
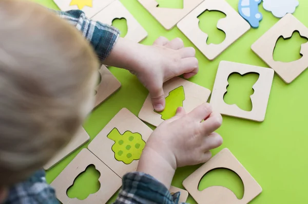
<path id="1" fill-rule="evenodd" d="M 176 70 L 176 74 L 178 76 L 184 74 L 185 78 L 195 76 L 199 71 L 198 64 L 198 59 L 196 57 L 181 59 L 178 65 L 178 69 Z"/>

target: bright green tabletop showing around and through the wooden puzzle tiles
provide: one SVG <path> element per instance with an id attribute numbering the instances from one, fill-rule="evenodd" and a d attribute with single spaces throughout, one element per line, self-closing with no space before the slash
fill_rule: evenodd
<path id="1" fill-rule="evenodd" d="M 58 9 L 52 0 L 34 0 L 47 7 Z M 178 28 L 166 31 L 144 9 L 137 0 L 121 0 L 124 6 L 133 14 L 138 22 L 147 30 L 148 37 L 142 42 L 150 45 L 159 36 L 169 39 L 180 37 L 185 46 L 193 46 Z M 237 10 L 238 0 L 227 0 Z M 308 26 L 308 1 L 300 0 L 299 7 L 294 15 Z M 258 29 L 251 29 L 244 34 L 236 43 L 230 46 L 215 60 L 210 62 L 200 51 L 197 50 L 199 59 L 199 74 L 190 81 L 212 89 L 218 64 L 221 60 L 263 66 L 263 61 L 251 50 L 251 45 L 279 19 L 272 13 L 267 12 L 260 5 L 259 10 L 263 14 L 263 20 Z M 221 42 L 224 33 L 217 30 L 215 25 L 220 17 L 216 14 L 205 14 L 200 20 L 203 29 L 209 29 L 209 40 Z M 204 21 L 203 21 L 204 20 Z M 121 27 L 120 27 L 121 28 Z M 121 28 L 122 29 L 122 28 Z M 279 39 L 274 57 L 277 60 L 295 60 L 299 57 L 300 44 L 305 43 L 299 35 L 294 35 L 290 40 Z M 139 110 L 148 94 L 147 90 L 139 83 L 137 78 L 126 70 L 111 67 L 110 71 L 121 81 L 120 91 L 111 96 L 99 108 L 93 111 L 87 119 L 84 127 L 91 139 L 93 139 L 108 123 L 108 121 L 122 108 L 129 109 L 138 115 Z M 257 80 L 254 74 L 250 76 L 234 75 L 229 78 L 230 88 L 226 95 L 227 103 L 236 103 L 239 107 L 251 109 L 249 95 L 253 93 L 252 86 Z M 263 192 L 251 203 L 307 203 L 308 194 L 306 183 L 308 176 L 307 144 L 308 134 L 306 118 L 308 116 L 308 71 L 303 72 L 292 84 L 285 84 L 276 74 L 274 77 L 272 92 L 269 97 L 265 121 L 256 123 L 234 117 L 223 117 L 223 125 L 217 131 L 224 138 L 223 145 L 213 150 L 213 154 L 222 148 L 228 148 L 238 158 L 241 164 L 252 174 L 263 188 Z M 247 99 L 248 98 L 248 99 Z M 82 148 L 86 148 L 89 142 Z M 47 180 L 51 182 L 69 164 L 69 162 L 81 151 L 75 151 L 64 159 L 60 164 L 47 172 Z M 182 181 L 199 166 L 184 167 L 177 170 L 172 185 L 183 188 Z M 94 180 L 94 184 L 89 181 Z M 88 173 L 80 179 L 79 185 L 87 188 L 98 188 L 97 175 Z M 78 183 L 76 183 L 78 184 Z M 235 192 L 240 198 L 243 195 L 243 185 L 240 178 L 231 171 L 215 170 L 206 175 L 200 182 L 199 190 L 206 187 L 220 185 Z M 84 197 L 83 189 L 76 189 L 75 194 Z M 113 201 L 115 196 L 110 200 Z M 204 198 L 206 199 L 206 198 Z M 190 196 L 188 202 L 196 203 Z"/>

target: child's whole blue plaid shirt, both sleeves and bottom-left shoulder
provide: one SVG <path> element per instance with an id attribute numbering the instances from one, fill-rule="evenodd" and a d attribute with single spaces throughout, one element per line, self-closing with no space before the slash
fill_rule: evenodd
<path id="1" fill-rule="evenodd" d="M 80 30 L 91 43 L 101 60 L 110 53 L 119 37 L 119 30 L 100 22 L 91 21 L 80 10 L 55 11 L 60 17 Z M 171 195 L 168 189 L 150 175 L 132 172 L 123 177 L 123 185 L 116 204 L 173 204 L 179 202 L 180 192 Z M 59 204 L 45 179 L 45 171 L 37 171 L 28 180 L 17 183 L 9 190 L 5 204 Z"/>

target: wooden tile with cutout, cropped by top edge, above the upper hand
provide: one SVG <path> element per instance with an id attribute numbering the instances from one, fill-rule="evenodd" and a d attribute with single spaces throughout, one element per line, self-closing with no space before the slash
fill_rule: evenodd
<path id="1" fill-rule="evenodd" d="M 190 11 L 204 0 L 183 0 L 183 9 L 161 8 L 156 0 L 138 0 L 140 4 L 154 16 L 167 30 L 173 28 Z"/>

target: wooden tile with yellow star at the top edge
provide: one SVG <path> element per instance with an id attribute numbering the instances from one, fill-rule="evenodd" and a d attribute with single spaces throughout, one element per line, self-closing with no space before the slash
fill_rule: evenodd
<path id="1" fill-rule="evenodd" d="M 82 10 L 88 18 L 93 17 L 114 0 L 53 0 L 62 10 Z"/>

